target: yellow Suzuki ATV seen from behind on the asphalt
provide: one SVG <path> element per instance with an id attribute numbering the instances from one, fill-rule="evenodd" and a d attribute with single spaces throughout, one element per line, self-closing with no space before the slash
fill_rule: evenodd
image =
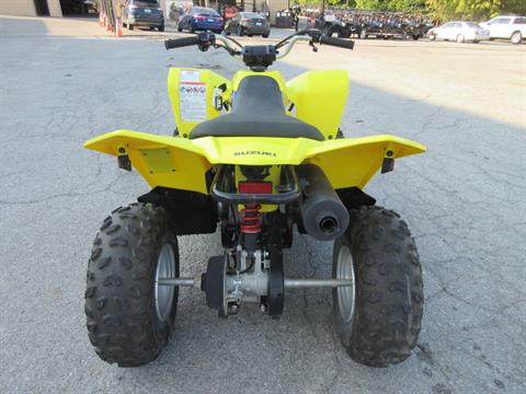
<path id="1" fill-rule="evenodd" d="M 95 237 L 85 314 L 96 354 L 121 367 L 159 356 L 174 328 L 179 288 L 205 292 L 227 317 L 255 303 L 279 317 L 294 288 L 333 289 L 335 329 L 356 361 L 387 367 L 410 356 L 423 306 L 419 254 L 408 225 L 363 192 L 397 158 L 425 147 L 393 136 L 343 138 L 345 71 L 285 81 L 267 71 L 306 40 L 352 49 L 353 42 L 298 32 L 276 45 L 241 46 L 199 33 L 167 49 L 226 49 L 250 69 L 231 81 L 209 70 L 172 68 L 168 89 L 179 136 L 117 130 L 85 148 L 135 167 L 151 186 L 115 209 Z M 285 278 L 283 250 L 294 228 L 334 241 L 332 278 Z M 225 253 L 196 278 L 179 275 L 178 235 L 219 228 Z"/>

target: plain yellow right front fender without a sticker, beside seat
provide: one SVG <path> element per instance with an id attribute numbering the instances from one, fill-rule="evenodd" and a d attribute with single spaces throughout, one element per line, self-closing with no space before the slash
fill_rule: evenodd
<path id="1" fill-rule="evenodd" d="M 348 76 L 343 70 L 305 72 L 286 85 L 296 117 L 317 127 L 325 139 L 336 138 L 347 94 Z"/>

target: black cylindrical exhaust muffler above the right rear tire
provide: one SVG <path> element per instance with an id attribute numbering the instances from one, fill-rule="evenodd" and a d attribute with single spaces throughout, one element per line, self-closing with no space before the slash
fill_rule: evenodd
<path id="1" fill-rule="evenodd" d="M 323 171 L 313 164 L 296 167 L 304 192 L 301 220 L 307 234 L 319 241 L 332 241 L 348 227 L 348 212 Z"/>

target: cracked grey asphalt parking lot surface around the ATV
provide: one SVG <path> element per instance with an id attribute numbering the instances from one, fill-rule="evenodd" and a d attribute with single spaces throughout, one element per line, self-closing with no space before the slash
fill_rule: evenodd
<path id="1" fill-rule="evenodd" d="M 3 393 L 526 392 L 524 45 L 358 40 L 354 51 L 318 54 L 305 45 L 275 67 L 286 78 L 348 70 L 347 137 L 388 132 L 428 147 L 366 188 L 408 221 L 423 263 L 424 320 L 410 359 L 389 369 L 352 361 L 329 290 L 290 291 L 279 321 L 250 305 L 224 321 L 201 291 L 182 289 L 160 358 L 118 369 L 88 340 L 85 268 L 101 221 L 148 186 L 82 143 L 119 128 L 171 134 L 168 68 L 231 77 L 239 63 L 219 51 L 167 53 L 158 35 L 107 38 L 93 25 L 0 18 Z M 330 276 L 332 245 L 296 235 L 286 274 Z M 218 234 L 181 237 L 180 248 L 183 276 L 221 253 Z"/>

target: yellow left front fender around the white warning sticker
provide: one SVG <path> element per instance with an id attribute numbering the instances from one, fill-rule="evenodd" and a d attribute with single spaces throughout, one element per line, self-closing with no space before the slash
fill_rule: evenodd
<path id="1" fill-rule="evenodd" d="M 183 71 L 183 79 L 181 79 L 181 71 Z M 192 78 L 188 76 L 192 76 Z M 199 121 L 213 119 L 221 114 L 214 105 L 214 91 L 222 83 L 227 86 L 230 85 L 229 80 L 210 70 L 193 68 L 170 69 L 168 73 L 168 94 L 170 96 L 170 102 L 172 103 L 175 124 L 178 125 L 179 135 L 181 137 L 187 137 L 190 131 L 192 131 Z M 206 103 L 204 103 L 206 105 L 206 116 L 199 121 L 185 121 L 181 116 L 181 105 L 183 105 L 181 103 L 181 89 L 184 89 L 185 86 L 190 89 L 206 88 Z"/>

